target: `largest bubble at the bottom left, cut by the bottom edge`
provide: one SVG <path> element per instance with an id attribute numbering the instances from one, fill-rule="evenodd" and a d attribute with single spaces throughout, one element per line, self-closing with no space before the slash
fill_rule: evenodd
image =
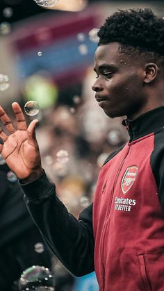
<path id="1" fill-rule="evenodd" d="M 54 276 L 48 268 L 28 267 L 19 278 L 19 291 L 51 290 L 54 291 Z"/>

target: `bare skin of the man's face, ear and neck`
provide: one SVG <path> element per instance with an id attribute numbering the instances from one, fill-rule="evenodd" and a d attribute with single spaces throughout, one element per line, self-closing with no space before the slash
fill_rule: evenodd
<path id="1" fill-rule="evenodd" d="M 155 63 L 129 57 L 119 47 L 113 42 L 97 48 L 92 90 L 106 115 L 135 119 L 163 105 L 164 83 Z"/>

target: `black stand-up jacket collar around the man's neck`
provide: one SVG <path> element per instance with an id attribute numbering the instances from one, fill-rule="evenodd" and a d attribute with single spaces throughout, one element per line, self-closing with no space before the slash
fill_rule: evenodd
<path id="1" fill-rule="evenodd" d="M 133 120 L 124 119 L 122 124 L 129 132 L 130 142 L 155 133 L 164 127 L 164 106 L 150 110 Z"/>

